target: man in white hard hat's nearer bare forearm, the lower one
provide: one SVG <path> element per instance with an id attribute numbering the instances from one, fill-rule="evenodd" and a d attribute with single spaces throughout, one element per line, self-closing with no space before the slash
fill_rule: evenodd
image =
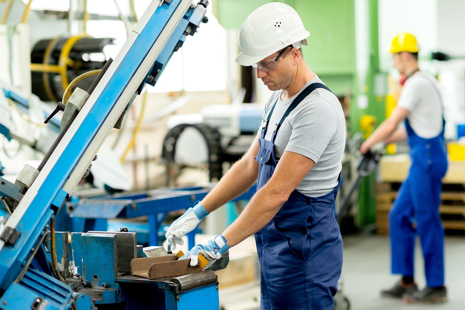
<path id="1" fill-rule="evenodd" d="M 275 192 L 264 186 L 247 204 L 233 224 L 223 232 L 229 246 L 239 244 L 268 224 L 286 202 L 282 192 Z"/>

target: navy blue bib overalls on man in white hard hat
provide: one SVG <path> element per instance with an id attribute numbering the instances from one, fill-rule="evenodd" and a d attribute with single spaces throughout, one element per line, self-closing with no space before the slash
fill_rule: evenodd
<path id="1" fill-rule="evenodd" d="M 265 140 L 268 114 L 259 139 L 257 190 L 276 167 L 274 139 L 287 115 L 316 88 L 313 83 L 291 103 Z M 329 89 L 328 89 L 329 90 Z M 274 218 L 255 234 L 261 272 L 261 309 L 334 309 L 333 296 L 342 269 L 342 238 L 334 217 L 338 185 L 328 194 L 308 197 L 293 191 Z"/>

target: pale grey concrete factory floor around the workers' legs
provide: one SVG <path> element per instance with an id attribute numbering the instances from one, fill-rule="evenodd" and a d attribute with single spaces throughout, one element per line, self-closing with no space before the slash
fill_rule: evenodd
<path id="1" fill-rule="evenodd" d="M 389 238 L 376 235 L 344 236 L 342 293 L 350 300 L 352 310 L 465 310 L 465 238 L 445 238 L 445 269 L 448 303 L 410 305 L 400 299 L 381 297 L 379 291 L 390 287 L 399 277 L 390 274 Z M 425 272 L 419 240 L 415 253 L 416 281 L 425 286 Z M 259 284 L 243 284 L 219 292 L 225 310 L 259 309 Z"/>

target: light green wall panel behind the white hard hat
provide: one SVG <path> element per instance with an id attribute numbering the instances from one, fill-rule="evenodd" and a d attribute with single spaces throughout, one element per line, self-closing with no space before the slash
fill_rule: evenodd
<path id="1" fill-rule="evenodd" d="M 215 13 L 225 28 L 239 29 L 256 8 L 272 1 L 217 0 Z M 303 47 L 307 64 L 315 73 L 355 73 L 355 26 L 353 0 L 279 1 L 293 7 L 310 37 Z"/>

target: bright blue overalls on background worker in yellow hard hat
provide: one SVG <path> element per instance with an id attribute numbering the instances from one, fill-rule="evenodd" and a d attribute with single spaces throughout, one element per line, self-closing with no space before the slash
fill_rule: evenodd
<path id="1" fill-rule="evenodd" d="M 415 235 L 420 237 L 425 259 L 426 285 L 444 284 L 444 228 L 439 217 L 441 178 L 447 171 L 443 130 L 424 139 L 405 119 L 412 165 L 389 214 L 392 273 L 413 277 Z M 412 224 L 416 223 L 416 228 Z"/>

